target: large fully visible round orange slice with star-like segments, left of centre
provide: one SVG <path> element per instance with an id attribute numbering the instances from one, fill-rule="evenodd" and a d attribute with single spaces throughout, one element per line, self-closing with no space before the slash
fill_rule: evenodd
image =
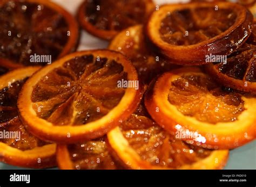
<path id="1" fill-rule="evenodd" d="M 44 67 L 24 84 L 18 109 L 38 137 L 61 143 L 103 136 L 136 109 L 136 69 L 122 54 L 83 51 Z"/>

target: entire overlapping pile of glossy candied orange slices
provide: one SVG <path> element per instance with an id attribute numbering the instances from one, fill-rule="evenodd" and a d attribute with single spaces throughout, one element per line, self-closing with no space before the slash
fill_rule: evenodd
<path id="1" fill-rule="evenodd" d="M 85 1 L 80 25 L 112 41 L 108 49 L 68 55 L 77 25 L 57 5 L 4 1 L 0 9 L 5 29 L 16 21 L 22 34 L 24 20 L 44 18 L 28 32 L 31 45 L 10 49 L 24 35 L 0 40 L 0 132 L 21 135 L 0 137 L 0 161 L 47 168 L 56 159 L 60 169 L 78 170 L 222 169 L 229 149 L 256 138 L 256 25 L 245 6 Z M 63 33 L 73 27 L 71 41 Z M 46 39 L 33 38 L 38 33 Z M 25 49 L 52 52 L 54 63 L 21 68 L 30 64 Z M 218 55 L 227 60 L 206 61 Z"/>

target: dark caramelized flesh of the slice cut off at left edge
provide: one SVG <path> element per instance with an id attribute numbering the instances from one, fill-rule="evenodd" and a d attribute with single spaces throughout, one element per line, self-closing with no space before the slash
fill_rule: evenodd
<path id="1" fill-rule="evenodd" d="M 25 130 L 18 117 L 17 98 L 22 85 L 26 81 L 16 81 L 0 90 L 0 142 L 8 146 L 28 150 L 46 145 L 45 142 Z"/>

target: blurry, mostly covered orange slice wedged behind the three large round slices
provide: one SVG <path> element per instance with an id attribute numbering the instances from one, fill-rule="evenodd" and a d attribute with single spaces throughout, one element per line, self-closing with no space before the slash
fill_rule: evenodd
<path id="1" fill-rule="evenodd" d="M 145 83 L 150 83 L 158 74 L 177 67 L 152 51 L 146 42 L 142 25 L 131 26 L 117 34 L 108 48 L 129 57 Z"/>

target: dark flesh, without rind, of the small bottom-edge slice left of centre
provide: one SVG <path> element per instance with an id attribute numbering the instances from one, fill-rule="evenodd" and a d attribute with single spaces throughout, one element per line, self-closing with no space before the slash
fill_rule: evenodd
<path id="1" fill-rule="evenodd" d="M 76 169 L 117 169 L 104 138 L 68 146 Z"/>

